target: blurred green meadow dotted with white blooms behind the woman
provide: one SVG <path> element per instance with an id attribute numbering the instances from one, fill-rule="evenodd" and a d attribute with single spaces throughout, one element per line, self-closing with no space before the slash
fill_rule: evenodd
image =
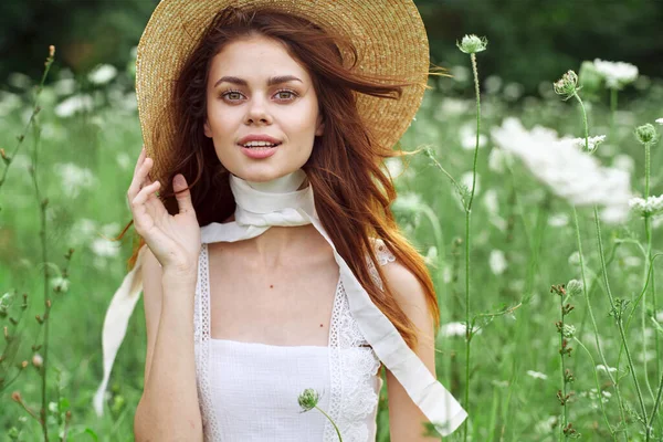
<path id="1" fill-rule="evenodd" d="M 481 71 L 481 54 L 478 62 Z M 445 170 L 456 180 L 467 182 L 473 170 L 476 134 L 469 60 L 466 65 L 451 66 L 450 72 L 453 78 L 443 78 L 439 87 L 427 92 L 415 120 L 402 139 L 402 148 L 413 150 L 429 145 Z M 7 327 L 6 333 L 14 337 L 9 344 L 0 339 L 0 351 L 7 355 L 0 364 L 0 377 L 4 378 L 4 385 L 0 385 L 0 440 L 13 436 L 21 441 L 43 440 L 36 420 L 12 400 L 12 393 L 20 392 L 24 403 L 39 413 L 42 378 L 35 367 L 39 357 L 34 360 L 33 356 L 42 355 L 43 348 L 33 351 L 31 346 L 43 340 L 44 326 L 35 315 L 44 312 L 44 257 L 40 199 L 30 173 L 35 159 L 41 199 L 49 200 L 45 240 L 51 281 L 67 265 L 65 255 L 74 249 L 66 292 L 51 288 L 48 293 L 52 301 L 48 319 L 51 440 L 57 440 L 62 433 L 67 410 L 72 413 L 67 440 L 133 440 L 133 417 L 143 391 L 146 347 L 141 303 L 130 319 L 114 366 L 105 415 L 97 418 L 91 403 L 102 378 L 104 314 L 126 273 L 134 239 L 127 235 L 126 241 L 113 243 L 105 238 L 117 235 L 130 220 L 126 190 L 141 137 L 130 72 L 114 73 L 106 69 L 105 77 L 103 71 L 96 74 L 96 78 L 75 82 L 62 71 L 54 78 L 56 82 L 41 92 L 36 125 L 30 125 L 24 133 L 18 154 L 11 158 L 7 180 L 0 187 L 0 296 L 15 291 L 18 299 L 8 308 L 8 315 L 0 317 L 0 327 Z M 559 136 L 580 137 L 582 122 L 577 104 L 562 102 L 554 94 L 552 82 L 557 78 L 539 78 L 538 94 L 526 97 L 522 96 L 518 83 L 505 84 L 497 76 L 480 80 L 482 130 L 471 218 L 470 311 L 474 316 L 514 309 L 480 320 L 482 327 L 472 338 L 469 385 L 464 326 L 457 324 L 464 322 L 466 306 L 465 212 L 449 178 L 424 154 L 409 157 L 407 167 L 399 160 L 388 164 L 399 191 L 393 209 L 400 225 L 430 264 L 443 324 L 438 338 L 438 375 L 459 399 L 469 388 L 470 401 L 463 403 L 471 417 L 467 440 L 559 440 L 562 407 L 557 391 L 562 375 L 555 323 L 560 312 L 559 297 L 550 293 L 550 286 L 581 280 L 572 209 L 567 201 L 555 197 L 552 189 L 537 181 L 517 158 L 511 168 L 504 167 L 501 161 L 504 149 L 496 146 L 491 131 L 505 118 L 515 117 L 526 128 L 541 125 Z M 7 156 L 13 152 L 19 144 L 17 136 L 30 120 L 38 83 L 38 78 L 15 74 L 4 92 L 0 92 L 0 147 Z M 636 126 L 663 117 L 663 82 L 641 76 L 629 85 L 624 97 L 620 96 L 612 127 L 608 96 L 608 92 L 602 92 L 594 101 L 587 102 L 591 135 L 611 134 L 596 156 L 604 166 L 629 170 L 633 193 L 642 194 L 644 149 L 633 131 Z M 661 126 L 654 126 L 660 133 Z M 35 127 L 41 136 L 34 131 Z M 654 145 L 651 152 L 651 194 L 656 196 L 663 192 L 661 145 Z M 3 170 L 0 167 L 0 173 Z M 593 214 L 588 208 L 578 208 L 578 213 L 590 284 L 601 270 Z M 661 222 L 654 218 L 652 223 L 656 253 L 661 249 Z M 646 246 L 643 221 L 633 214 L 625 222 L 602 227 L 606 257 L 611 259 L 608 270 L 612 294 L 634 303 L 644 285 L 646 266 L 646 255 L 641 249 Z M 656 262 L 654 266 L 660 269 Z M 609 316 L 606 288 L 600 282 L 588 288 L 608 365 L 617 367 L 621 341 Z M 22 294 L 28 294 L 24 312 L 20 308 Z M 566 367 L 575 377 L 569 387 L 573 394 L 567 402 L 568 421 L 582 434 L 581 440 L 644 441 L 643 425 L 636 418 L 639 399 L 625 359 L 622 357 L 615 372 L 627 410 L 622 414 L 606 372 L 596 368 L 600 361 L 586 301 L 580 295 L 569 303 L 575 309 L 566 322 L 575 325 L 575 337 L 588 351 L 571 343 L 573 351 L 566 358 Z M 652 320 L 657 317 L 659 323 L 663 322 L 660 295 L 648 295 L 645 314 L 641 315 L 639 305 L 627 333 L 648 410 L 653 408 L 661 379 L 663 344 L 659 341 L 663 335 Z M 10 318 L 19 317 L 14 326 Z M 28 366 L 17 368 L 22 361 Z M 614 435 L 608 429 L 599 400 L 603 400 L 608 421 L 621 430 Z M 388 440 L 386 406 L 382 391 L 380 442 Z M 653 422 L 657 439 L 663 438 L 660 415 L 659 412 Z M 463 432 L 459 430 L 449 440 L 463 440 Z"/>

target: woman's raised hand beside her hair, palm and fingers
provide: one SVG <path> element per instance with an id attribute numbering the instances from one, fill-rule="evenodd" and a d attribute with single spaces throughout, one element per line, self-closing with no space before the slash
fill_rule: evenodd
<path id="1" fill-rule="evenodd" d="M 140 151 L 134 179 L 127 191 L 129 208 L 134 214 L 136 232 L 147 243 L 164 271 L 196 274 L 200 253 L 200 225 L 191 202 L 189 189 L 177 193 L 179 213 L 171 215 L 161 200 L 155 194 L 161 187 L 159 181 L 151 181 L 148 173 L 154 165 L 146 158 L 145 148 Z M 176 192 L 187 188 L 181 173 L 172 179 Z"/>

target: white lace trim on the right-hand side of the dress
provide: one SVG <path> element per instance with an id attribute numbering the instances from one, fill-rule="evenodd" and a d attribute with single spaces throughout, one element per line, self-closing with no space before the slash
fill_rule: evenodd
<path id="1" fill-rule="evenodd" d="M 373 246 L 380 265 L 396 261 L 396 256 L 382 240 L 375 240 Z M 367 261 L 371 277 L 382 288 L 377 269 L 369 257 Z M 332 391 L 328 414 L 336 422 L 345 442 L 368 440 L 368 417 L 375 412 L 378 404 L 378 394 L 372 382 L 379 368 L 380 359 L 368 346 L 359 325 L 350 314 L 347 295 L 343 284 L 339 284 L 329 328 Z M 338 434 L 329 421 L 325 423 L 323 440 L 338 440 Z"/>

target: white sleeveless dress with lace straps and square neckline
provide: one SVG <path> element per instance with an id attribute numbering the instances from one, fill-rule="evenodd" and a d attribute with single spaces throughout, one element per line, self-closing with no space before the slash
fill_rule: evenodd
<path id="1" fill-rule="evenodd" d="M 381 265 L 396 257 L 380 241 Z M 371 275 L 381 287 L 370 262 Z M 302 412 L 307 388 L 336 423 L 344 442 L 373 442 L 382 379 L 380 360 L 352 318 L 340 277 L 328 346 L 275 346 L 210 336 L 208 244 L 202 244 L 196 288 L 196 366 L 204 441 L 330 442 L 334 425 L 317 409 Z"/>

